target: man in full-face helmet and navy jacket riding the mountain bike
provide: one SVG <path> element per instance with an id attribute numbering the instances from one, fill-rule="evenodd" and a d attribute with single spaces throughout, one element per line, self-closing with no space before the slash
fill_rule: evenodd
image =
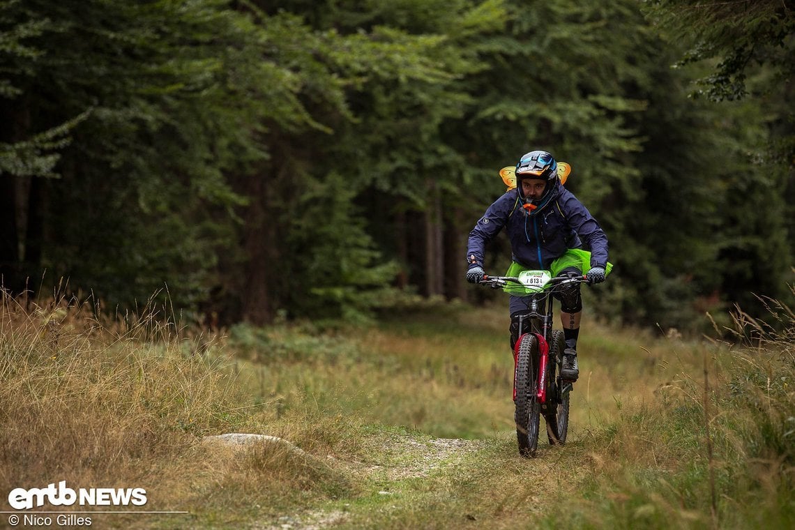
<path id="1" fill-rule="evenodd" d="M 513 258 L 506 276 L 515 277 L 526 269 L 551 270 L 555 276 L 581 275 L 588 269 L 589 283 L 604 281 L 610 269 L 607 236 L 588 209 L 560 183 L 554 157 L 546 151 L 526 153 L 516 164 L 515 175 L 517 187 L 494 201 L 469 233 L 467 281 L 483 280 L 483 250 L 503 226 Z M 566 342 L 560 377 L 576 381 L 580 376 L 577 339 L 583 308 L 580 284 L 569 284 L 554 296 L 560 300 Z M 519 316 L 528 313 L 526 298 L 510 296 L 511 350 L 519 338 Z"/>

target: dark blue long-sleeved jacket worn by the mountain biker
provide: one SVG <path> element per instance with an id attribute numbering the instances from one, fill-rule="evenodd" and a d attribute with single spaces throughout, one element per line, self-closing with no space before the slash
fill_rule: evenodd
<path id="1" fill-rule="evenodd" d="M 591 250 L 591 267 L 605 267 L 607 236 L 599 223 L 562 184 L 553 193 L 547 206 L 533 217 L 525 214 L 515 188 L 495 200 L 469 233 L 467 262 L 474 256 L 475 264 L 482 267 L 483 249 L 505 226 L 514 261 L 529 269 L 549 269 L 566 250 L 583 246 Z"/>

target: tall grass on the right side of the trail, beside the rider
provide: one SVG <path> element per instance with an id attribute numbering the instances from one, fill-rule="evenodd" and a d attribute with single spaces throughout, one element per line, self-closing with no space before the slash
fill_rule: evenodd
<path id="1" fill-rule="evenodd" d="M 673 350 L 677 375 L 591 432 L 592 474 L 547 522 L 793 528 L 795 318 L 773 305 L 778 331 L 737 311 L 731 343 Z"/>

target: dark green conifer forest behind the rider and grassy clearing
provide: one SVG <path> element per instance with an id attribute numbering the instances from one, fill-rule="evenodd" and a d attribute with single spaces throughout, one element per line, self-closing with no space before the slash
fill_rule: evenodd
<path id="1" fill-rule="evenodd" d="M 477 302 L 467 234 L 547 149 L 611 242 L 596 314 L 758 312 L 793 280 L 793 28 L 781 0 L 0 0 L 2 285 L 219 325 Z"/>

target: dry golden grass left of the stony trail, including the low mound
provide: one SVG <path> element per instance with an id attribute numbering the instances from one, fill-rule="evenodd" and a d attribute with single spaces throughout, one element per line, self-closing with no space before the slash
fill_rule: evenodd
<path id="1" fill-rule="evenodd" d="M 60 480 L 143 487 L 146 509 L 190 509 L 204 525 L 235 506 L 245 505 L 246 516 L 263 499 L 289 505 L 306 491 L 324 497 L 349 487 L 311 455 L 201 443 L 204 435 L 272 429 L 312 448 L 334 432 L 333 420 L 295 412 L 300 427 L 268 424 L 264 404 L 238 384 L 223 339 L 177 327 L 164 311 L 105 318 L 73 300 L 0 302 L 2 505 L 11 489 Z M 152 522 L 114 516 L 97 524 Z"/>

